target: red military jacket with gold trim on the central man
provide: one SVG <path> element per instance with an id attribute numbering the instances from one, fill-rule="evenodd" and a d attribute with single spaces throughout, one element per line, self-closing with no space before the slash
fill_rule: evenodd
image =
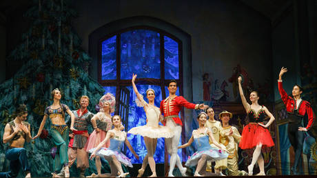
<path id="1" fill-rule="evenodd" d="M 188 109 L 194 109 L 196 104 L 188 102 L 186 99 L 184 99 L 184 97 L 181 96 L 176 96 L 173 98 L 167 97 L 161 101 L 160 109 L 164 117 L 177 115 L 177 117 L 172 117 L 172 119 L 176 124 L 183 126 L 181 119 L 178 117 L 178 113 L 181 111 L 183 106 Z M 163 124 L 165 126 L 165 120 L 163 121 Z"/>

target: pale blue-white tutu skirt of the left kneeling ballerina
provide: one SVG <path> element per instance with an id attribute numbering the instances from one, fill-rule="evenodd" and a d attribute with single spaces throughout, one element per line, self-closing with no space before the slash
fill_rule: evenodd
<path id="1" fill-rule="evenodd" d="M 92 148 L 89 150 L 89 152 L 92 153 L 94 152 L 95 149 L 96 148 Z M 103 147 L 98 152 L 96 152 L 96 155 L 99 157 L 110 157 L 114 155 L 116 159 L 118 159 L 118 161 L 121 162 L 121 164 L 123 164 L 124 166 L 129 166 L 130 168 L 133 168 L 130 159 L 126 157 L 125 155 L 123 155 L 122 152 L 112 151 L 112 150 L 109 150 L 108 148 Z"/>

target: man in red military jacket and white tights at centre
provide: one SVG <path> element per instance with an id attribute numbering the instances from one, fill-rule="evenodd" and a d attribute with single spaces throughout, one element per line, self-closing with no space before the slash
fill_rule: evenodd
<path id="1" fill-rule="evenodd" d="M 201 109 L 204 110 L 208 106 L 201 104 L 194 104 L 186 101 L 181 96 L 176 95 L 177 90 L 177 82 L 175 80 L 170 81 L 167 87 L 170 95 L 161 101 L 161 113 L 164 115 L 164 125 L 171 128 L 174 131 L 174 137 L 165 139 L 165 143 L 167 146 L 167 152 L 171 156 L 170 158 L 170 171 L 168 172 L 169 177 L 174 177 L 173 170 L 175 164 L 179 170 L 181 170 L 181 174 L 185 176 L 186 168 L 183 168 L 181 164 L 181 159 L 179 159 L 177 155 L 177 147 L 179 143 L 179 139 L 181 138 L 182 126 L 183 123 L 181 119 L 178 117 L 178 113 L 181 111 L 181 108 L 185 106 L 189 109 Z"/>

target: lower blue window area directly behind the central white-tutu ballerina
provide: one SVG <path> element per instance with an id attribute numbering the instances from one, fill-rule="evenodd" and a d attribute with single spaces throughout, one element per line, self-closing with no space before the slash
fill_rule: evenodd
<path id="1" fill-rule="evenodd" d="M 130 130 L 131 128 L 137 126 L 144 126 L 146 124 L 146 116 L 143 107 L 136 106 L 136 94 L 133 91 L 132 86 L 128 86 L 127 88 L 130 90 L 130 108 L 127 130 Z M 136 88 L 138 88 L 139 93 L 143 95 L 143 98 L 146 102 L 148 102 L 148 100 L 146 98 L 145 91 L 148 88 L 154 89 L 156 95 L 154 105 L 158 108 L 160 107 L 160 103 L 162 101 L 162 92 L 160 86 L 137 85 Z M 130 144 L 140 158 L 139 160 L 137 160 L 129 149 L 127 149 L 126 152 L 127 157 L 131 159 L 132 164 L 141 164 L 145 155 L 147 154 L 143 137 L 141 137 L 140 135 L 128 134 L 127 139 L 130 141 Z M 154 160 L 156 163 L 164 163 L 164 154 L 162 154 L 162 152 L 164 152 L 164 139 L 160 138 L 157 139 L 156 152 L 154 154 Z"/>

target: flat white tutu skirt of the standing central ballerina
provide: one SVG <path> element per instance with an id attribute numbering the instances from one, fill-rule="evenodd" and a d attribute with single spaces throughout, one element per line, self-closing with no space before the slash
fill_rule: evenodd
<path id="1" fill-rule="evenodd" d="M 170 128 L 167 128 L 166 126 L 139 126 L 135 128 L 131 128 L 128 133 L 133 135 L 141 135 L 143 137 L 150 137 L 152 139 L 156 138 L 172 138 L 174 137 L 174 132 Z"/>

